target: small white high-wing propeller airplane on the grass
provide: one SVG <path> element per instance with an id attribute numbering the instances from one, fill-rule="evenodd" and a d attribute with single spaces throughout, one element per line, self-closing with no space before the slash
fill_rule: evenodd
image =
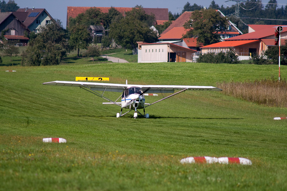
<path id="1" fill-rule="evenodd" d="M 164 99 L 170 98 L 176 94 L 184 92 L 186 90 L 195 90 L 195 91 L 222 91 L 219 88 L 213 86 L 162 86 L 162 85 L 131 85 L 128 84 L 117 84 L 117 83 L 95 83 L 95 82 L 75 82 L 75 81 L 51 81 L 43 83 L 44 85 L 54 85 L 54 86 L 72 86 L 72 87 L 80 87 L 88 92 L 91 92 L 109 102 L 103 104 L 115 104 L 121 107 L 120 113 L 117 113 L 117 117 L 121 117 L 128 112 L 134 110 L 135 113 L 133 117 L 136 119 L 138 117 L 138 113 L 145 118 L 149 118 L 149 114 L 145 114 L 145 108 L 163 101 Z M 179 92 L 174 93 L 175 90 L 179 90 Z M 96 91 L 103 91 L 102 94 Z M 118 98 L 121 98 L 121 102 L 112 101 L 103 96 L 104 92 L 123 92 L 122 95 Z M 162 93 L 163 99 L 160 99 L 154 103 L 145 103 L 145 93 Z M 164 93 L 174 93 L 167 97 L 164 96 Z M 122 109 L 130 109 L 128 112 L 122 114 Z M 138 109 L 143 109 L 144 114 L 141 114 Z"/>

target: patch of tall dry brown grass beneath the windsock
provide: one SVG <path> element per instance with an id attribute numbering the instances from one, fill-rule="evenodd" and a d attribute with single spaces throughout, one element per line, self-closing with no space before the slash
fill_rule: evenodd
<path id="1" fill-rule="evenodd" d="M 243 100 L 270 107 L 287 107 L 287 81 L 268 78 L 245 82 L 223 82 L 217 84 L 223 93 Z"/>

